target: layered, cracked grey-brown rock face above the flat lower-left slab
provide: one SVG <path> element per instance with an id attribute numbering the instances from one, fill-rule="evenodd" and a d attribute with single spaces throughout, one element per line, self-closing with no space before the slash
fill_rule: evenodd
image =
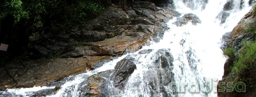
<path id="1" fill-rule="evenodd" d="M 130 6 L 127 11 L 114 5 L 108 7 L 103 15 L 85 25 L 85 29 L 73 29 L 52 38 L 38 35 L 40 39 L 30 44 L 31 53 L 40 58 L 70 51 L 72 54 L 68 55 L 74 57 L 134 52 L 145 45 L 150 36 L 155 37 L 156 32 L 168 29 L 165 22 L 180 16 L 177 11 L 156 7 L 150 2 L 136 1 Z"/>

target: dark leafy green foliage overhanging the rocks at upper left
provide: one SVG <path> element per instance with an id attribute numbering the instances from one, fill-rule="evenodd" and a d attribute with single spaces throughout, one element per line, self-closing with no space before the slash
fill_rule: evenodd
<path id="1" fill-rule="evenodd" d="M 110 0 L 5 0 L 0 20 L 8 18 L 14 20 L 14 25 L 30 23 L 36 26 L 50 22 L 51 32 L 65 34 L 65 29 L 81 27 L 102 14 L 104 6 L 108 6 L 109 2 Z"/>

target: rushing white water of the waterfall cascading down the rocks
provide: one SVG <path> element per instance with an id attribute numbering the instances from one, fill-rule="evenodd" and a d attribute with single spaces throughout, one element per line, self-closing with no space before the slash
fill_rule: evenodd
<path id="1" fill-rule="evenodd" d="M 217 82 L 222 78 L 226 60 L 220 49 L 222 35 L 230 32 L 251 8 L 249 0 L 244 0 L 242 5 L 240 1 L 233 0 L 233 9 L 226 11 L 230 15 L 221 23 L 217 16 L 224 11 L 226 0 L 173 0 L 172 8 L 182 14 L 180 17 L 192 13 L 199 17 L 201 24 L 195 26 L 188 22 L 187 25 L 177 27 L 174 24 L 177 18 L 173 18 L 167 23 L 170 29 L 164 33 L 160 42 L 151 41 L 141 50 L 122 55 L 93 71 L 69 76 L 64 79 L 60 89 L 49 97 L 84 96 L 85 92 L 81 89 L 87 86 L 85 80 L 91 75 L 114 69 L 117 62 L 124 58 L 134 58 L 136 69 L 129 76 L 123 90 L 115 88 L 111 78 L 101 76 L 106 79 L 107 97 L 217 97 Z M 146 53 L 141 53 L 143 51 Z M 169 78 L 162 74 L 156 75 L 156 72 L 166 70 L 159 69 L 160 67 L 168 69 L 165 73 Z M 156 78 L 161 79 L 159 81 Z M 167 82 L 163 82 L 165 79 Z M 211 85 L 206 87 L 211 89 L 209 92 L 199 89 L 199 92 L 193 93 L 189 90 L 189 85 L 184 88 L 184 92 L 172 92 L 172 87 L 169 86 L 170 82 L 179 85 L 194 82 L 200 87 L 209 80 Z M 33 96 L 40 90 L 53 88 L 54 86 L 8 89 L 5 93 L 12 97 L 25 97 Z"/>

